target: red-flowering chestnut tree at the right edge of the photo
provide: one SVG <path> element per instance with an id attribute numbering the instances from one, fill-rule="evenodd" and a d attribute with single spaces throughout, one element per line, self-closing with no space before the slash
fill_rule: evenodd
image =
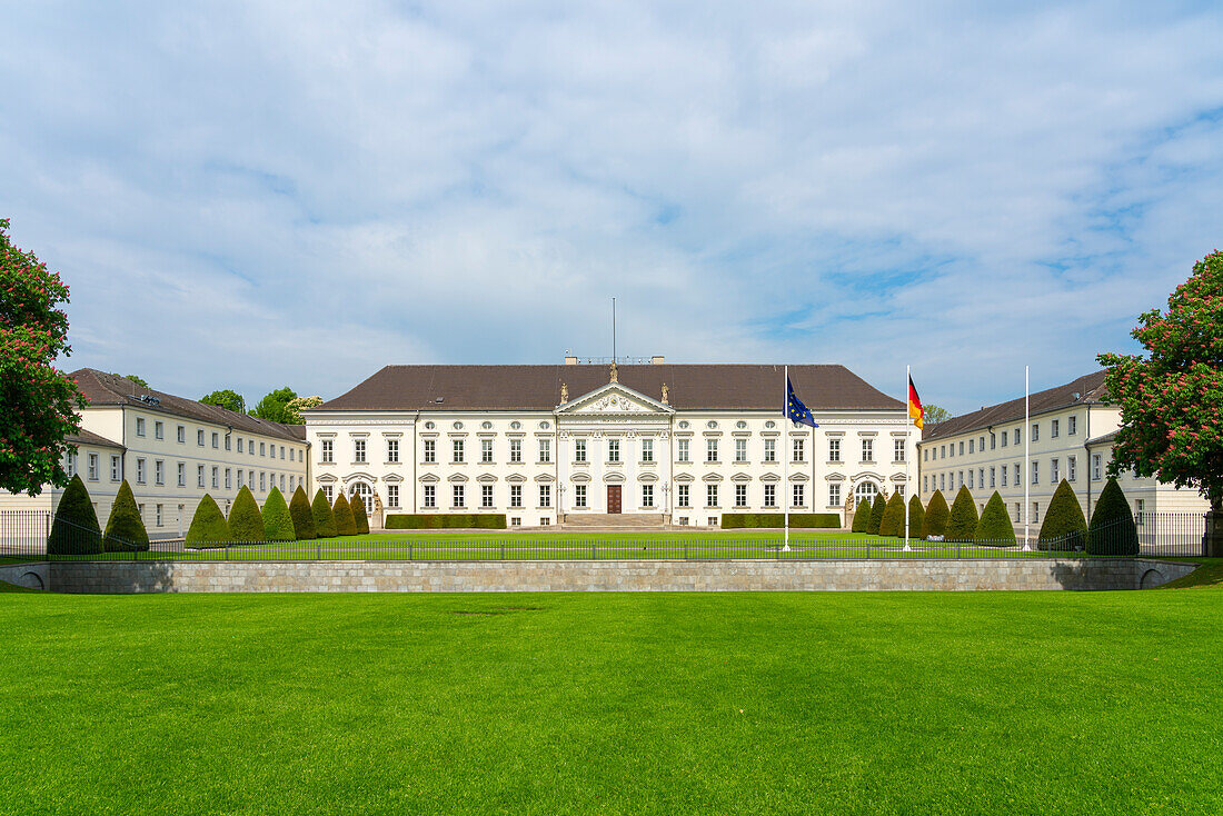
<path id="1" fill-rule="evenodd" d="M 1168 311 L 1142 313 L 1131 334 L 1145 357 L 1098 356 L 1121 407 L 1108 472 L 1197 488 L 1211 505 L 1207 553 L 1223 555 L 1223 252 L 1194 264 Z"/>

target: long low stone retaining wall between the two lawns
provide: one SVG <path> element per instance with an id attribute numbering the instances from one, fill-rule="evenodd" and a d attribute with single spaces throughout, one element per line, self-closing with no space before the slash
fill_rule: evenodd
<path id="1" fill-rule="evenodd" d="M 51 564 L 57 592 L 757 592 L 1136 590 L 1196 564 L 1152 559 L 91 562 Z"/>

